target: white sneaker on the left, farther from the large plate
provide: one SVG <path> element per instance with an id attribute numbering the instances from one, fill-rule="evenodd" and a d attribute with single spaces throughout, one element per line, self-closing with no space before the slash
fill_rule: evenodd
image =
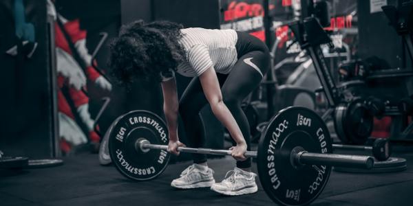
<path id="1" fill-rule="evenodd" d="M 190 189 L 198 187 L 211 187 L 215 183 L 213 170 L 207 166 L 193 164 L 182 171 L 180 178 L 171 182 L 172 187 Z"/>

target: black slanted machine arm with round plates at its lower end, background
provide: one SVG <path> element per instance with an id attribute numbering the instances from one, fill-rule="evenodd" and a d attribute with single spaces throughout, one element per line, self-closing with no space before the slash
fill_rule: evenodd
<path id="1" fill-rule="evenodd" d="M 304 21 L 293 21 L 289 27 L 295 34 L 301 49 L 306 50 L 313 60 L 326 102 L 329 105 L 323 117 L 329 116 L 334 111 L 335 130 L 343 144 L 364 143 L 372 132 L 373 116 L 370 115 L 363 99 L 359 99 L 352 93 L 346 93 L 348 88 L 361 87 L 363 82 L 346 82 L 337 87 L 320 47 L 324 44 L 332 47 L 332 42 L 317 19 L 308 17 Z"/>

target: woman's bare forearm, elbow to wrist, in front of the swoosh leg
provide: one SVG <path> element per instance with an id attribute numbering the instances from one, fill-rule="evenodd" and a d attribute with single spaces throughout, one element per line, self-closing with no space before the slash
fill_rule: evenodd
<path id="1" fill-rule="evenodd" d="M 235 121 L 231 111 L 229 111 L 228 107 L 222 102 L 222 100 L 211 104 L 211 109 L 215 117 L 225 126 L 225 128 L 229 131 L 231 137 L 237 144 L 245 143 L 244 136 L 242 136 L 242 132 L 240 127 L 238 126 L 237 122 Z"/>

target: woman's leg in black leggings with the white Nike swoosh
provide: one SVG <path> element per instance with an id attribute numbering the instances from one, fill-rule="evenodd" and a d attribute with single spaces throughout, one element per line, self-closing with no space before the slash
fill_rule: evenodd
<path id="1" fill-rule="evenodd" d="M 251 150 L 250 127 L 242 111 L 241 103 L 251 91 L 260 85 L 269 67 L 270 56 L 266 47 L 260 51 L 248 52 L 237 60 L 221 89 L 222 98 L 244 135 L 247 150 Z M 251 158 L 246 161 L 237 161 L 237 168 L 250 167 Z"/>

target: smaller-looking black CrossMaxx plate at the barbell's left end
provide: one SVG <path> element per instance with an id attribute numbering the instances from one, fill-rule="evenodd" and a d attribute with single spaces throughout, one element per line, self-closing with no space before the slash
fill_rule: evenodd
<path id="1" fill-rule="evenodd" d="M 109 135 L 109 154 L 116 169 L 129 179 L 145 181 L 161 174 L 169 162 L 165 150 L 142 152 L 135 148 L 138 139 L 151 144 L 168 144 L 167 126 L 149 111 L 131 111 L 118 119 Z"/>

